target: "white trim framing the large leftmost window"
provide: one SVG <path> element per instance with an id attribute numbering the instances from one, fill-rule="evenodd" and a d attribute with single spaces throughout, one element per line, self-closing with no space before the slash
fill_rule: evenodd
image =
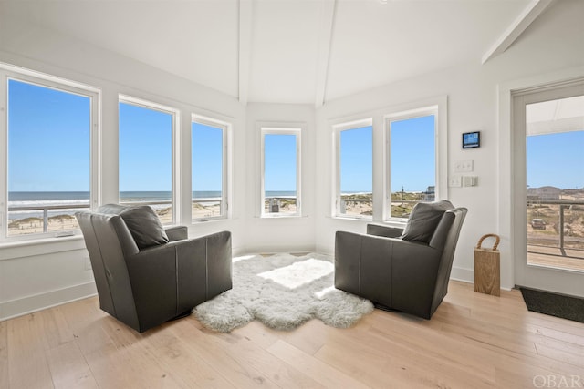
<path id="1" fill-rule="evenodd" d="M 101 200 L 101 90 L 86 84 L 66 78 L 47 75 L 24 67 L 16 67 L 0 62 L 0 153 L 5 158 L 0 159 L 0 241 L 32 241 L 44 239 L 59 239 L 62 232 L 41 232 L 36 234 L 16 235 L 8 237 L 8 80 L 14 79 L 25 83 L 56 89 L 90 100 L 90 135 L 89 135 L 89 209 L 93 210 Z M 80 230 L 68 230 L 67 235 L 79 235 Z"/>

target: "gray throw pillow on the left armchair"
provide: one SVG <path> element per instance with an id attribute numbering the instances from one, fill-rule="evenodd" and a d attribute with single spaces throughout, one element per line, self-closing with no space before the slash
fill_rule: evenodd
<path id="1" fill-rule="evenodd" d="M 169 242 L 161 220 L 150 206 L 128 207 L 120 212 L 120 217 L 140 250 Z"/>

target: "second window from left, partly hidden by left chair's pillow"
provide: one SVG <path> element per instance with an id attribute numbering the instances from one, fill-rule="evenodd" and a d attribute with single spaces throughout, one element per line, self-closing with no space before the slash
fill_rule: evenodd
<path id="1" fill-rule="evenodd" d="M 119 103 L 120 203 L 150 205 L 163 224 L 178 215 L 173 159 L 178 111 L 133 97 Z"/>

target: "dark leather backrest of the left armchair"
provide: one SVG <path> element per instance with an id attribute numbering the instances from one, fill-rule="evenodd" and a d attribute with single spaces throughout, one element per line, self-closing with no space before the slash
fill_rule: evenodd
<path id="1" fill-rule="evenodd" d="M 77 212 L 75 216 L 89 252 L 100 308 L 137 328 L 126 257 L 139 249 L 130 230 L 115 214 Z"/>

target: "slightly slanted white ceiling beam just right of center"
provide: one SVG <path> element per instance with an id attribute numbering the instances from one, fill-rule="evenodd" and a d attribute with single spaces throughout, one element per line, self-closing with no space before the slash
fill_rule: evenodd
<path id="1" fill-rule="evenodd" d="M 332 44 L 332 27 L 335 20 L 336 0 L 320 2 L 320 26 L 318 30 L 317 51 L 317 87 L 315 107 L 322 107 L 325 103 L 327 90 L 328 61 L 330 59 L 330 45 Z"/>

